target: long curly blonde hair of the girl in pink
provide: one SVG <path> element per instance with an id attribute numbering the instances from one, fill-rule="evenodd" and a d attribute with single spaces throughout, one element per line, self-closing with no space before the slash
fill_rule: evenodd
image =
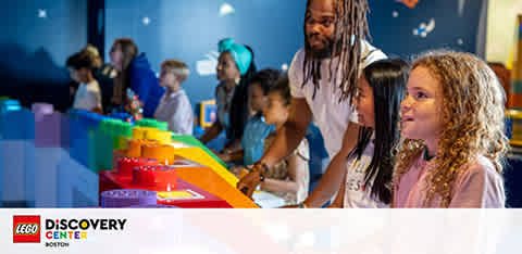
<path id="1" fill-rule="evenodd" d="M 502 172 L 502 158 L 508 151 L 505 135 L 506 96 L 495 73 L 478 58 L 461 52 L 434 51 L 414 61 L 417 67 L 428 69 L 443 91 L 438 150 L 434 167 L 428 172 L 428 190 L 424 206 L 436 195 L 442 206 L 450 203 L 452 182 L 475 155 L 483 155 Z M 397 155 L 394 181 L 407 173 L 421 155 L 425 144 L 405 140 Z"/>

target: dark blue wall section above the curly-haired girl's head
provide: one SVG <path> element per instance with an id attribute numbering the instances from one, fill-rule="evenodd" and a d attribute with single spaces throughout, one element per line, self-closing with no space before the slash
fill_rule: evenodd
<path id="1" fill-rule="evenodd" d="M 484 52 L 486 9 L 482 12 L 482 8 L 487 7 L 487 0 L 419 0 L 413 9 L 396 0 L 369 2 L 373 43 L 388 54 L 409 58 L 439 48 Z M 425 37 L 413 34 L 421 23 L 427 26 L 432 18 L 435 27 L 431 33 Z"/>

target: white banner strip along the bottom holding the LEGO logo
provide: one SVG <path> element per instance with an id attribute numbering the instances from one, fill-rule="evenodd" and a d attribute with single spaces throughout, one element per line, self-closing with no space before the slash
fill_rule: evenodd
<path id="1" fill-rule="evenodd" d="M 522 209 L 0 209 L 0 228 L 17 254 L 522 250 Z"/>

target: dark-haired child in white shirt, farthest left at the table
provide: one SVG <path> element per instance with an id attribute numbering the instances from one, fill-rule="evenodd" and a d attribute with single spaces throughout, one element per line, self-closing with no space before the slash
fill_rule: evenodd
<path id="1" fill-rule="evenodd" d="M 67 60 L 71 78 L 79 82 L 74 97 L 73 109 L 103 112 L 101 107 L 101 90 L 92 76 L 94 59 L 86 52 L 76 53 Z"/>

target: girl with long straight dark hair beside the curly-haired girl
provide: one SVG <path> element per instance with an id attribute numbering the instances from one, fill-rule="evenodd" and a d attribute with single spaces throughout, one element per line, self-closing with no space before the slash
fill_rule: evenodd
<path id="1" fill-rule="evenodd" d="M 359 137 L 332 206 L 389 207 L 408 73 L 409 65 L 401 60 L 382 60 L 364 68 L 355 100 Z"/>

